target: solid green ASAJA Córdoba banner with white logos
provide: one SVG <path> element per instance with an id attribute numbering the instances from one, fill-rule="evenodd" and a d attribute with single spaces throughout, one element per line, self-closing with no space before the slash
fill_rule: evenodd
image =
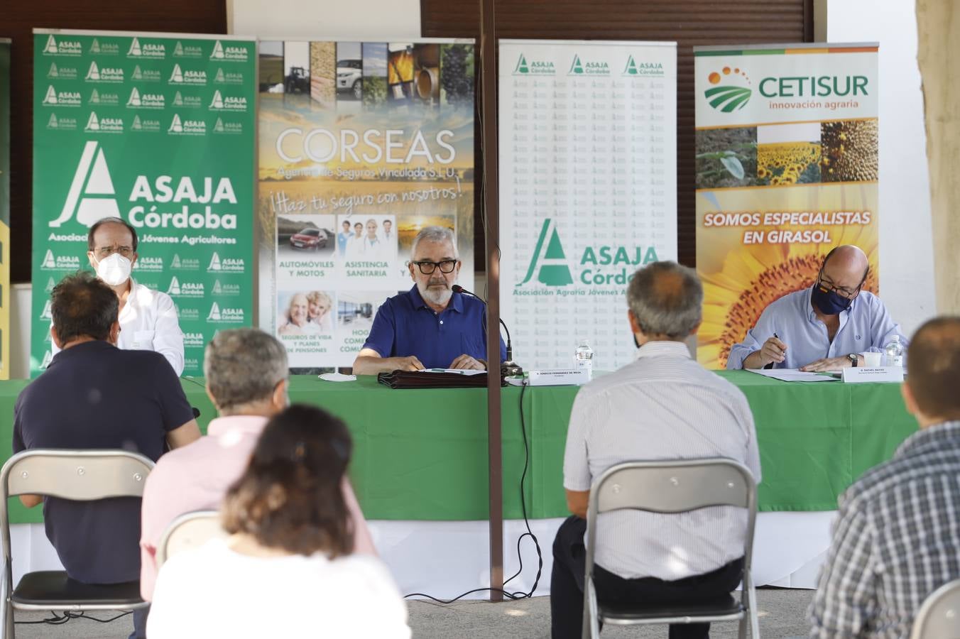
<path id="1" fill-rule="evenodd" d="M 49 363 L 50 291 L 88 269 L 105 217 L 136 228 L 133 278 L 173 297 L 185 375 L 252 324 L 256 46 L 229 36 L 34 36 L 33 374 Z"/>

